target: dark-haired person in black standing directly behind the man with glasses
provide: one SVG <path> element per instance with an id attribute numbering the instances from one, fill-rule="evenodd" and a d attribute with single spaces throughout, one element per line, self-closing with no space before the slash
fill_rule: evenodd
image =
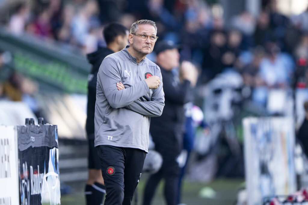
<path id="1" fill-rule="evenodd" d="M 88 104 L 86 121 L 86 131 L 89 141 L 89 176 L 85 187 L 87 205 L 101 204 L 105 193 L 99 157 L 94 148 L 94 111 L 96 101 L 97 73 L 99 66 L 107 55 L 122 50 L 128 44 L 128 33 L 128 29 L 118 23 L 111 23 L 105 26 L 103 36 L 105 38 L 107 48 L 99 48 L 96 52 L 87 55 L 89 63 L 92 64 L 92 69 L 88 77 Z"/>

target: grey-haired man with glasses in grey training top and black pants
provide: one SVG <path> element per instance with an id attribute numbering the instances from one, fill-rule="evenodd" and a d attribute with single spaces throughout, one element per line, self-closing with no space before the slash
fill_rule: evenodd
<path id="1" fill-rule="evenodd" d="M 129 44 L 108 55 L 97 75 L 95 147 L 106 187 L 105 205 L 131 204 L 148 152 L 150 117 L 160 116 L 164 91 L 160 68 L 146 58 L 155 22 L 132 24 Z"/>

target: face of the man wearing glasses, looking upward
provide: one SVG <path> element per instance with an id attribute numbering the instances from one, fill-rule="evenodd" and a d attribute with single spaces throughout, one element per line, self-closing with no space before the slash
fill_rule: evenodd
<path id="1" fill-rule="evenodd" d="M 152 52 L 157 38 L 154 26 L 141 24 L 136 33 L 129 34 L 128 40 L 136 54 L 147 55 Z"/>

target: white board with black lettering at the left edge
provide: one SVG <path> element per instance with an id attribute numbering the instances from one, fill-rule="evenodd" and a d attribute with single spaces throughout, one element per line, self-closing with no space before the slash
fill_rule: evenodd
<path id="1" fill-rule="evenodd" d="M 0 125 L 0 204 L 19 204 L 18 147 L 14 126 Z"/>

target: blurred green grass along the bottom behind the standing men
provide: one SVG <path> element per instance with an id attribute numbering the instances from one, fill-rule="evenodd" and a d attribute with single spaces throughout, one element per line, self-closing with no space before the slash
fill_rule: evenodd
<path id="1" fill-rule="evenodd" d="M 142 203 L 143 189 L 148 175 L 141 176 L 137 187 L 138 205 Z M 244 179 L 216 179 L 210 183 L 184 181 L 182 191 L 182 203 L 187 205 L 233 205 L 237 192 L 241 188 Z M 62 205 L 85 205 L 83 189 L 85 182 L 68 183 L 72 187 L 72 193 L 61 196 Z M 160 182 L 152 205 L 166 204 L 163 197 L 163 181 Z M 132 205 L 136 205 L 133 203 Z"/>

